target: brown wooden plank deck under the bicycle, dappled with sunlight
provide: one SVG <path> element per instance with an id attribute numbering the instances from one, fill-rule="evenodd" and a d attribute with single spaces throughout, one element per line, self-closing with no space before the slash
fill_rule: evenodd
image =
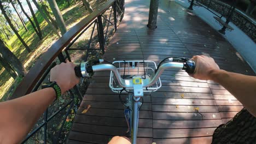
<path id="1" fill-rule="evenodd" d="M 124 20 L 110 41 L 105 59 L 144 57 L 159 62 L 168 56 L 206 55 L 222 69 L 255 75 L 222 35 L 174 1 L 161 1 L 158 28 L 153 31 L 146 27 L 149 0 L 125 3 Z M 144 96 L 138 143 L 211 143 L 216 127 L 243 107 L 222 86 L 193 79 L 184 71 L 166 70 L 161 80 L 159 91 Z M 108 81 L 109 72 L 95 73 L 75 116 L 68 143 L 107 143 L 115 135 L 125 135 L 123 105 L 109 89 Z M 82 113 L 88 105 L 88 112 Z M 199 108 L 203 118 L 194 107 Z"/>

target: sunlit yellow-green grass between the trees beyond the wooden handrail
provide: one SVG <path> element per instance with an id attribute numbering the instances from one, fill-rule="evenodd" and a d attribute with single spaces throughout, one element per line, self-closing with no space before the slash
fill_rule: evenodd
<path id="1" fill-rule="evenodd" d="M 97 5 L 98 1 L 94 0 L 91 3 L 94 4 L 92 5 L 92 7 L 94 7 Z M 78 1 L 77 4 L 72 2 L 73 5 L 70 7 L 68 7 L 67 2 L 65 1 L 59 1 L 58 4 L 60 4 L 60 10 L 63 15 L 63 19 L 65 20 L 67 29 L 70 29 L 89 14 L 85 8 L 82 7 L 81 1 Z M 31 48 L 32 52 L 28 53 L 25 50 L 25 47 L 21 44 L 16 35 L 7 41 L 7 45 L 9 46 L 10 50 L 16 57 L 20 59 L 27 70 L 30 70 L 30 68 L 36 62 L 36 59 L 38 59 L 42 53 L 45 52 L 58 39 L 57 35 L 51 31 L 50 26 L 48 26 L 48 23 L 43 19 L 43 16 L 39 13 L 36 13 L 36 16 L 40 28 L 42 29 L 42 40 L 39 40 L 30 22 L 26 22 L 28 32 L 26 32 L 25 28 L 23 27 L 19 30 L 19 34 L 21 35 L 22 39 L 24 39 L 25 43 Z M 9 76 L 8 72 L 4 70 L 4 68 L 0 67 L 0 100 L 4 101 L 10 97 L 21 80 L 21 77 L 14 80 Z"/>

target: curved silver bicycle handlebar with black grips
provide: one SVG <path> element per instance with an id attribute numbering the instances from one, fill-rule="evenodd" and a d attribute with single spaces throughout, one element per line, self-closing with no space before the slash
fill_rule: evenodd
<path id="1" fill-rule="evenodd" d="M 193 74 L 195 71 L 195 62 L 189 59 L 188 61 L 181 63 L 181 62 L 168 62 L 161 64 L 160 67 L 155 71 L 155 74 L 152 76 L 152 78 L 144 83 L 143 87 L 150 87 L 154 84 L 156 80 L 161 76 L 164 70 L 170 69 L 170 68 L 176 68 L 176 69 L 183 69 L 188 74 Z M 74 68 L 75 75 L 78 77 L 89 77 L 89 74 L 92 74 L 96 71 L 102 71 L 102 70 L 111 70 L 113 71 L 113 74 L 117 78 L 117 82 L 119 83 L 120 87 L 129 88 L 132 87 L 132 84 L 121 78 L 118 69 L 113 64 L 98 64 L 98 65 L 89 65 L 86 62 L 81 63 L 79 66 Z"/>

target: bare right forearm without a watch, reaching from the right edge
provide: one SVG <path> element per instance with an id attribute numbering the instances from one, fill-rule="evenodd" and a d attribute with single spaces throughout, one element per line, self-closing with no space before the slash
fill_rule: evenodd
<path id="1" fill-rule="evenodd" d="M 213 70 L 211 79 L 226 88 L 252 115 L 256 116 L 255 76 L 230 73 L 225 70 Z"/>

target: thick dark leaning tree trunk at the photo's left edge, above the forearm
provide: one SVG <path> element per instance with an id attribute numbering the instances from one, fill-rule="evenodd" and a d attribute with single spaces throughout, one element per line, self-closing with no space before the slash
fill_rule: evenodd
<path id="1" fill-rule="evenodd" d="M 19 76 L 24 77 L 26 75 L 26 70 L 19 59 L 11 52 L 7 46 L 3 43 L 0 39 L 0 54 L 6 63 L 8 63 L 17 73 Z"/>

